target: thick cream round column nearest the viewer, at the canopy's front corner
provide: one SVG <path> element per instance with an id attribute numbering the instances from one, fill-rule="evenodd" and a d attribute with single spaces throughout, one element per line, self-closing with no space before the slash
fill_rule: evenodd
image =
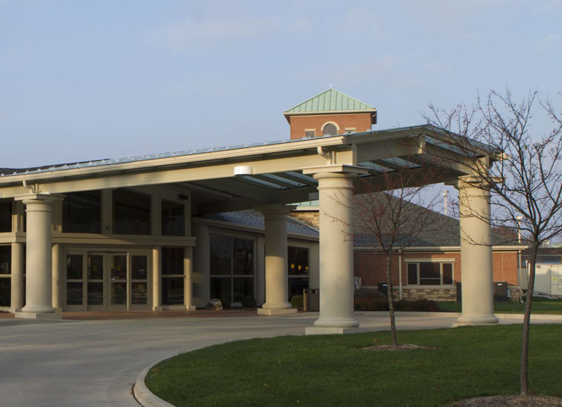
<path id="1" fill-rule="evenodd" d="M 314 326 L 355 328 L 353 316 L 353 178 L 317 173 L 320 193 L 320 318 Z"/>

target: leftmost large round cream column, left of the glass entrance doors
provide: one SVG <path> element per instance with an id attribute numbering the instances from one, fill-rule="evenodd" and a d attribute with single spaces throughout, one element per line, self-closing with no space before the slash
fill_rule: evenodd
<path id="1" fill-rule="evenodd" d="M 54 201 L 62 196 L 30 194 L 18 196 L 27 216 L 25 307 L 16 312 L 17 318 L 60 319 L 53 308 L 51 289 L 52 248 L 51 229 Z"/>

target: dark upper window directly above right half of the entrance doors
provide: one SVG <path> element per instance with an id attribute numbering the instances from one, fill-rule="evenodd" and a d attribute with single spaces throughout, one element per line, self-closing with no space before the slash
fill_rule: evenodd
<path id="1" fill-rule="evenodd" d="M 113 233 L 150 234 L 150 195 L 131 189 L 113 191 Z"/>

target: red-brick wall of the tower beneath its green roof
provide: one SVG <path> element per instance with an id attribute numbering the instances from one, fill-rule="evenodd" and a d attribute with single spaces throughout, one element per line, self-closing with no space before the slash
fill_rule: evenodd
<path id="1" fill-rule="evenodd" d="M 303 114 L 289 117 L 291 138 L 303 138 L 308 128 L 315 128 L 316 137 L 319 137 L 323 126 L 329 121 L 338 125 L 338 134 L 346 133 L 346 127 L 355 127 L 357 133 L 371 130 L 370 113 Z"/>

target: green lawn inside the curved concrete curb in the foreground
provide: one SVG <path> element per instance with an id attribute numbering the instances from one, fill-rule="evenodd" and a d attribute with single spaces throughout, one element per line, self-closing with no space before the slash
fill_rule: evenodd
<path id="1" fill-rule="evenodd" d="M 560 396 L 561 325 L 531 326 L 533 392 Z M 434 349 L 372 352 L 390 333 L 254 339 L 159 363 L 152 392 L 175 406 L 446 406 L 517 394 L 521 326 L 402 331 Z"/>

